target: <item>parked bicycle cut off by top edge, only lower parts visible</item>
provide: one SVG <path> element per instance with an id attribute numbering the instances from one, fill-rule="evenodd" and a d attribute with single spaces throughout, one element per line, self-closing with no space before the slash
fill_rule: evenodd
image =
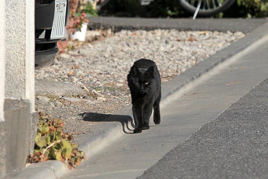
<path id="1" fill-rule="evenodd" d="M 110 0 L 98 0 L 97 7 L 100 9 Z M 140 5 L 149 5 L 153 0 L 139 0 Z M 228 9 L 236 0 L 179 0 L 180 5 L 193 13 L 193 19 L 197 15 L 210 16 Z"/>

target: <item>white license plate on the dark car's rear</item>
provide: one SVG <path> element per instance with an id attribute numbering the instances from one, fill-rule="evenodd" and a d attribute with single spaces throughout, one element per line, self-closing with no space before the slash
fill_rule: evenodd
<path id="1" fill-rule="evenodd" d="M 50 39 L 64 37 L 67 0 L 55 0 L 55 12 Z"/>

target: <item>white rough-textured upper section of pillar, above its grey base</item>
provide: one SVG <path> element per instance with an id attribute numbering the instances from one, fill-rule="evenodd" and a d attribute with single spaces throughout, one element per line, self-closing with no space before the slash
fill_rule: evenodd
<path id="1" fill-rule="evenodd" d="M 5 0 L 4 14 L 5 98 L 29 100 L 34 111 L 34 0 Z"/>

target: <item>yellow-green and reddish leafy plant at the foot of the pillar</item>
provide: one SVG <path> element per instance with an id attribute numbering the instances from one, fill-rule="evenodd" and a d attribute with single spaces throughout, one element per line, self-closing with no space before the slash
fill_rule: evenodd
<path id="1" fill-rule="evenodd" d="M 69 169 L 74 169 L 82 159 L 86 160 L 84 152 L 71 142 L 73 136 L 63 132 L 64 122 L 61 119 L 51 119 L 41 112 L 39 118 L 34 154 L 29 156 L 28 162 L 58 160 L 67 164 Z"/>

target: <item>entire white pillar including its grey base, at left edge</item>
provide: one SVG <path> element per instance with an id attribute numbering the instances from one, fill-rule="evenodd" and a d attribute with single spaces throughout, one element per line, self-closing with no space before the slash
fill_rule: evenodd
<path id="1" fill-rule="evenodd" d="M 0 0 L 0 178 L 24 167 L 34 145 L 34 3 Z"/>

